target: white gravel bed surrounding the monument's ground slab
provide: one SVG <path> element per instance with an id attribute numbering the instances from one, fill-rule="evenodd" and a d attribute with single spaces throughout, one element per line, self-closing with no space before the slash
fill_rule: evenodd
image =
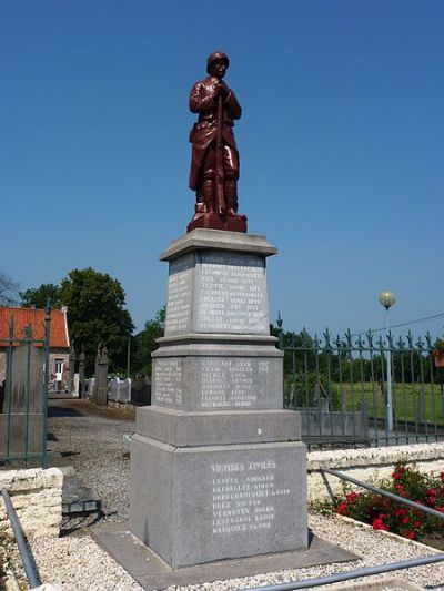
<path id="1" fill-rule="evenodd" d="M 434 553 L 434 550 L 421 544 L 404 541 L 381 531 L 356 527 L 343 519 L 311 514 L 310 527 L 314 533 L 324 540 L 333 543 L 340 542 L 342 548 L 356 553 L 361 557 L 361 560 L 299 570 L 276 571 L 256 577 L 231 579 L 190 587 L 171 587 L 169 591 L 229 591 L 245 587 L 279 584 Z M 142 589 L 88 534 L 65 537 L 58 540 L 53 538 L 40 538 L 34 540 L 32 549 L 42 579 L 46 582 L 60 584 L 67 591 L 87 589 L 91 591 L 135 591 Z M 444 563 L 396 571 L 395 574 L 421 587 L 444 590 Z M 365 578 L 365 581 L 382 579 L 384 577 L 389 577 L 389 574 Z"/>

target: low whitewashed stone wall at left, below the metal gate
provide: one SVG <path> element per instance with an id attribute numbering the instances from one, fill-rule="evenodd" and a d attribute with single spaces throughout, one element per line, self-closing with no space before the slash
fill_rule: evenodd
<path id="1" fill-rule="evenodd" d="M 63 475 L 58 468 L 0 471 L 27 536 L 59 536 L 62 520 Z M 3 498 L 0 498 L 0 530 L 10 531 Z"/>

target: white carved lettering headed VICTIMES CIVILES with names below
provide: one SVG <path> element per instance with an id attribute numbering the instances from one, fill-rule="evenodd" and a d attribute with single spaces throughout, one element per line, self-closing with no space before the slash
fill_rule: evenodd
<path id="1" fill-rule="evenodd" d="M 278 497 L 291 493 L 279 485 L 274 460 L 213 463 L 211 471 L 214 534 L 272 528 Z"/>

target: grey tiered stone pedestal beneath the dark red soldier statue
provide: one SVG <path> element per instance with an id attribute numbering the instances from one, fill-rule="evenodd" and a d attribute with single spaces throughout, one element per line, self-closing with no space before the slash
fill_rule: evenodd
<path id="1" fill-rule="evenodd" d="M 152 404 L 137 412 L 131 532 L 173 569 L 307 546 L 305 446 L 282 409 L 263 236 L 194 230 L 169 262 Z"/>

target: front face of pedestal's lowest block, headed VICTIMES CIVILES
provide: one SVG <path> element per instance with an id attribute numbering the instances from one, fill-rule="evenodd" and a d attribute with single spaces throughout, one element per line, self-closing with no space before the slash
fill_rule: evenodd
<path id="1" fill-rule="evenodd" d="M 186 548 L 191 534 L 201 541 L 201 559 L 210 560 L 306 547 L 302 444 L 183 451 L 176 537 L 184 563 L 195 558 L 196 549 Z M 192 495 L 185 490 L 192 486 L 188 475 L 199 482 Z"/>

